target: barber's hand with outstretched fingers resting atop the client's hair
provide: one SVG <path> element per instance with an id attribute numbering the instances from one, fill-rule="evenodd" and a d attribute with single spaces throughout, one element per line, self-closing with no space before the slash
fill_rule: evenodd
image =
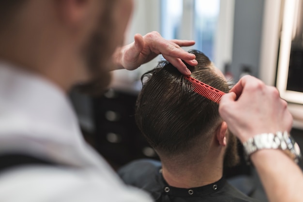
<path id="1" fill-rule="evenodd" d="M 141 64 L 151 61 L 157 55 L 171 62 L 184 75 L 191 72 L 182 62 L 189 65 L 197 65 L 194 54 L 188 53 L 181 47 L 194 45 L 194 41 L 187 40 L 166 40 L 158 32 L 152 31 L 144 36 L 135 35 L 135 42 L 128 46 L 121 47 L 120 54 L 116 57 L 117 63 L 128 70 L 134 70 Z"/>

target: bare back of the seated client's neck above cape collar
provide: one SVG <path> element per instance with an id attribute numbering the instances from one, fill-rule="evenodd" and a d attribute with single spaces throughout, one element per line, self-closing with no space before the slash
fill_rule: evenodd
<path id="1" fill-rule="evenodd" d="M 190 155 L 183 158 L 186 159 L 183 161 L 180 158 L 161 158 L 163 177 L 168 185 L 179 188 L 205 186 L 217 182 L 223 176 L 223 153 L 220 153 L 222 155 L 208 155 L 203 159 L 194 159 L 194 155 Z"/>

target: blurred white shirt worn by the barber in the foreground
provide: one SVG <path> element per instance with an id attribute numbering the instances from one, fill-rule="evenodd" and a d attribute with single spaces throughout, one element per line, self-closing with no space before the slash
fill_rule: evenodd
<path id="1" fill-rule="evenodd" d="M 0 202 L 146 202 L 126 187 L 80 133 L 67 96 L 54 84 L 0 63 L 0 154 L 28 154 L 57 166 L 0 172 Z"/>

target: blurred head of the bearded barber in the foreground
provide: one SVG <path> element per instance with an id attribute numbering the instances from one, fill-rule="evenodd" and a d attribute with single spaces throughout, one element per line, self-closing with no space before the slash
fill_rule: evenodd
<path id="1" fill-rule="evenodd" d="M 0 57 L 34 71 L 44 64 L 37 70 L 42 74 L 53 71 L 47 66 L 64 68 L 70 70 L 69 83 L 98 80 L 92 86 L 102 87 L 132 6 L 133 0 L 1 0 L 0 46 L 6 53 Z M 35 62 L 29 62 L 34 55 Z"/>

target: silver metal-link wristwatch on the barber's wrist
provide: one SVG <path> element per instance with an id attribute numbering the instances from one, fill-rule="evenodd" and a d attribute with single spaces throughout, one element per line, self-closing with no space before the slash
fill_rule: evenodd
<path id="1" fill-rule="evenodd" d="M 302 158 L 300 147 L 287 131 L 262 133 L 243 143 L 247 160 L 249 156 L 261 149 L 280 149 L 296 163 Z"/>

